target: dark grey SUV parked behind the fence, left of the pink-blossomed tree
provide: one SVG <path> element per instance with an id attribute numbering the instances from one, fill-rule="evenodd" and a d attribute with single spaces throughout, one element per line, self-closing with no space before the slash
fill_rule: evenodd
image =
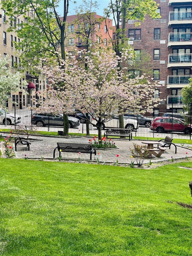
<path id="1" fill-rule="evenodd" d="M 76 117 L 68 116 L 69 120 L 69 128 L 77 127 L 79 126 L 79 119 Z M 38 114 L 35 113 L 32 116 L 32 124 L 37 126 L 63 126 L 63 114 Z"/>

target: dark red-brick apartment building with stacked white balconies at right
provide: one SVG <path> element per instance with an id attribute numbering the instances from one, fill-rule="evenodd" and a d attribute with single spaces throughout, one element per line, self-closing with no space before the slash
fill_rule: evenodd
<path id="1" fill-rule="evenodd" d="M 192 2 L 187 0 L 156 0 L 161 19 L 146 20 L 135 26 L 134 20 L 128 20 L 126 33 L 129 44 L 140 59 L 142 51 L 150 55 L 154 80 L 162 85 L 154 97 L 162 99 L 155 110 L 167 109 L 167 112 L 180 113 L 182 106 L 182 88 L 192 77 Z M 137 70 L 136 73 L 139 71 Z"/>

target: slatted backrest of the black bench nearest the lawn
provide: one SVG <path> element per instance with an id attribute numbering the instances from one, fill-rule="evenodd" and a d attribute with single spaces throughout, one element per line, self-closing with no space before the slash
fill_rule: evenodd
<path id="1" fill-rule="evenodd" d="M 60 143 L 57 142 L 58 151 L 61 149 L 63 152 L 81 152 L 89 153 L 91 152 L 91 144 L 78 144 L 78 143 Z"/>

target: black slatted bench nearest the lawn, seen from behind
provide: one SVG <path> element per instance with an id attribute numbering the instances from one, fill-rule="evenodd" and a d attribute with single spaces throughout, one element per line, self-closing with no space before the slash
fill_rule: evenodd
<path id="1" fill-rule="evenodd" d="M 92 154 L 96 155 L 96 149 L 92 148 L 91 144 L 57 142 L 57 147 L 54 149 L 54 152 L 53 152 L 53 158 L 55 158 L 56 149 L 58 149 L 59 157 L 61 157 L 61 152 L 88 153 L 88 154 L 90 154 L 90 160 L 92 160 Z M 60 149 L 61 149 L 61 151 L 60 151 Z"/>

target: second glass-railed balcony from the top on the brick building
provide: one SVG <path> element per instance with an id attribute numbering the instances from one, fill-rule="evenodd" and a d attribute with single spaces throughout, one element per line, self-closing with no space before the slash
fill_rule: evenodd
<path id="1" fill-rule="evenodd" d="M 167 47 L 171 46 L 192 46 L 192 32 L 185 33 L 169 33 Z"/>

